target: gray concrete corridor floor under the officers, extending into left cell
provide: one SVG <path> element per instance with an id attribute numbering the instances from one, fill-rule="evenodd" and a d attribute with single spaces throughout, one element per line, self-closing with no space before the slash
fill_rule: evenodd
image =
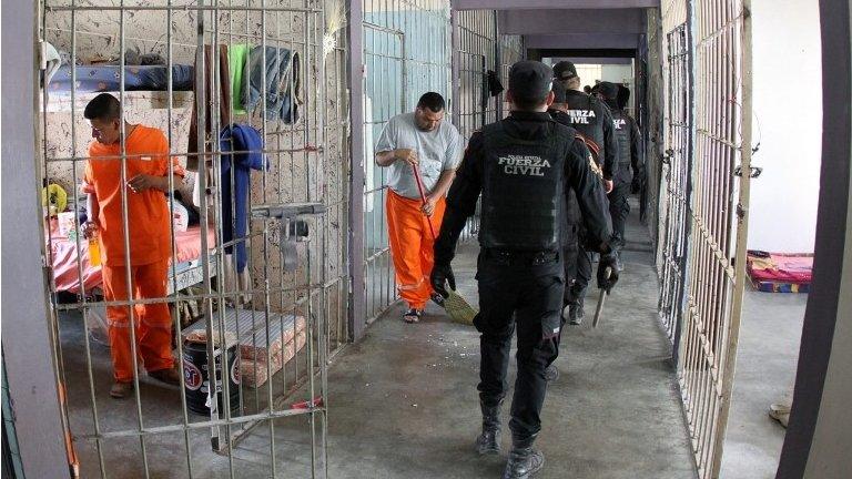
<path id="1" fill-rule="evenodd" d="M 587 322 L 564 335 L 557 365 L 561 377 L 548 390 L 538 445 L 547 457 L 541 478 L 691 479 L 689 440 L 668 360 L 669 346 L 657 322 L 657 279 L 647 234 L 625 253 L 621 283 L 607 302 L 605 318 L 592 330 Z M 454 262 L 463 295 L 475 303 L 477 248 L 465 245 Z M 589 317 L 595 298 L 587 299 Z M 430 306 L 418 325 L 399 320 L 395 305 L 367 336 L 335 358 L 331 368 L 328 461 L 336 478 L 493 478 L 501 457 L 479 458 L 473 440 L 479 429 L 476 393 L 478 334 L 449 323 Z M 91 430 L 85 354 L 79 320 L 64 318 L 63 350 L 69 377 L 69 408 L 77 434 Z M 135 406 L 106 396 L 109 351 L 95 346 L 93 373 L 102 428 L 135 427 Z M 510 368 L 514 380 L 514 365 Z M 181 420 L 179 394 L 143 385 L 146 424 Z M 300 391 L 300 398 L 306 393 Z M 295 400 L 295 399 L 294 399 Z M 508 420 L 508 408 L 504 411 Z M 191 420 L 204 418 L 191 416 Z M 310 477 L 311 435 L 306 417 L 274 421 L 275 465 L 281 477 Z M 322 428 L 321 428 L 322 429 Z M 270 477 L 268 427 L 255 428 L 234 449 L 233 461 L 210 451 L 207 430 L 190 435 L 193 476 Z M 508 435 L 504 447 L 508 448 Z M 151 477 L 189 477 L 182 434 L 145 439 Z M 83 477 L 99 477 L 91 442 L 77 441 Z M 105 446 L 108 477 L 143 477 L 140 441 L 111 440 Z M 323 467 L 322 461 L 320 466 Z"/>

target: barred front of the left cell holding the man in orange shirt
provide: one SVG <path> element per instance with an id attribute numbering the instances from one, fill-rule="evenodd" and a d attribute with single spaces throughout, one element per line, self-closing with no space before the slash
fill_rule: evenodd
<path id="1" fill-rule="evenodd" d="M 327 363 L 348 338 L 342 6 L 143 3 L 39 4 L 40 39 L 57 48 L 61 64 L 52 79 L 42 75 L 38 130 L 42 182 L 61 186 L 68 202 L 45 195 L 39 221 L 53 272 L 50 325 L 72 470 L 102 478 L 325 477 Z M 262 65 L 263 78 L 253 83 L 260 98 L 281 103 L 235 104 L 242 92 L 230 82 L 243 64 L 229 55 L 235 49 L 244 50 L 246 67 Z M 68 52 L 67 60 L 59 52 Z M 152 64 L 141 64 L 138 53 L 149 54 Z M 278 69 L 270 69 L 273 61 Z M 270 74 L 278 81 L 267 82 Z M 278 88 L 271 95 L 274 83 Z M 163 297 L 136 297 L 135 277 L 122 266 L 131 299 L 105 300 L 97 245 L 81 237 L 83 215 L 91 213 L 78 193 L 85 163 L 119 162 L 116 180 L 123 185 L 131 180 L 128 161 L 135 159 L 124 136 L 119 155 L 89 157 L 91 129 L 82 112 L 100 92 L 121 101 L 122 123 L 158 128 L 169 143 L 172 261 Z M 248 170 L 246 183 L 237 180 L 237 159 L 229 153 L 233 140 L 220 137 L 231 123 L 253 126 L 262 141 L 234 152 L 260 159 L 254 170 L 239 164 Z M 184 166 L 199 173 L 174 179 Z M 133 193 L 119 190 L 123 218 L 113 227 L 132 232 L 139 221 L 128 211 Z M 234 197 L 241 191 L 246 204 L 237 213 Z M 200 221 L 187 228 L 192 221 L 182 212 L 195 210 L 193 204 Z M 139 238 L 122 236 L 130 264 L 130 245 Z M 239 245 L 245 245 L 244 256 Z M 138 314 L 156 304 L 171 309 L 175 361 L 183 368 L 180 388 L 146 378 L 136 354 Z M 130 318 L 134 387 L 124 402 L 108 397 L 105 307 L 126 308 Z M 184 344 L 189 336 L 196 343 Z M 192 355 L 190 344 L 200 345 Z M 207 367 L 214 364 L 221 367 Z"/>

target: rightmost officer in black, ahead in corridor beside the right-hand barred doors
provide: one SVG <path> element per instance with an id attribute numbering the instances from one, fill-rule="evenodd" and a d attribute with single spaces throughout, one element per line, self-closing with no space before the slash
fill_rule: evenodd
<path id="1" fill-rule="evenodd" d="M 618 172 L 615 187 L 609 193 L 609 213 L 612 217 L 612 247 L 618 258 L 618 269 L 622 269 L 620 251 L 625 246 L 625 223 L 630 214 L 631 188 L 637 188 L 643 176 L 642 135 L 639 126 L 619 104 L 619 88 L 615 83 L 601 82 L 600 94 L 612 111 L 612 124 L 618 140 Z M 623 95 L 622 95 L 623 100 Z M 626 103 L 626 102 L 625 102 Z"/>

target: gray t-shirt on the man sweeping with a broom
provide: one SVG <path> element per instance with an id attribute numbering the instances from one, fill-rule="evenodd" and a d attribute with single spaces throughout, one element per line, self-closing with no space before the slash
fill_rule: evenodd
<path id="1" fill-rule="evenodd" d="M 417 152 L 420 176 L 426 194 L 438 183 L 440 173 L 455 170 L 462 161 L 462 136 L 448 121 L 440 122 L 437 129 L 425 132 L 417 128 L 414 113 L 396 115 L 387 122 L 376 143 L 376 153 L 409 149 Z M 397 160 L 388 166 L 387 185 L 397 194 L 408 198 L 419 198 L 417 182 L 412 166 Z"/>

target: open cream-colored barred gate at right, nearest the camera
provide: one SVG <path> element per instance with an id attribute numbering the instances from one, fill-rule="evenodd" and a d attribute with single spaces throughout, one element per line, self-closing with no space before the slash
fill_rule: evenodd
<path id="1" fill-rule="evenodd" d="M 661 230 L 667 236 L 660 247 L 670 258 L 677 258 L 683 252 L 682 243 L 676 243 L 684 236 L 679 228 L 686 227 L 687 261 L 680 269 L 669 262 L 670 271 L 665 275 L 673 279 L 679 273 L 684 278 L 682 310 L 671 316 L 681 330 L 674 338 L 679 345 L 677 375 L 699 475 L 713 479 L 721 467 L 746 283 L 751 176 L 749 12 L 749 0 L 671 0 L 665 2 L 662 13 L 669 43 L 663 69 L 668 85 L 677 85 L 682 75 L 682 57 L 677 54 L 683 51 L 682 42 L 693 58 L 692 81 L 687 90 L 694 99 L 690 122 L 694 139 L 684 166 L 691 186 L 683 198 L 686 224 L 678 226 L 673 235 L 668 234 L 670 230 Z M 671 105 L 680 101 L 677 96 L 669 100 Z M 669 109 L 673 128 L 667 135 L 672 152 L 682 146 L 684 133 L 674 131 L 676 115 L 681 114 L 676 110 Z M 672 157 L 670 179 L 680 167 L 673 162 Z M 668 202 L 667 215 L 676 221 L 671 208 L 677 211 L 677 202 Z M 677 284 L 668 284 L 672 283 Z M 666 304 L 673 308 L 680 300 L 671 295 Z"/>

